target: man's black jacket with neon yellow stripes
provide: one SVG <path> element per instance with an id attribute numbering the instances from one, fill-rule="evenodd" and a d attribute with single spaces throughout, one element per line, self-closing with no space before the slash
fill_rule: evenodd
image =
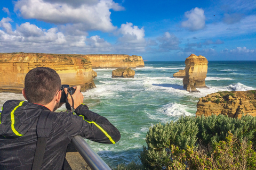
<path id="1" fill-rule="evenodd" d="M 0 114 L 0 169 L 31 169 L 35 154 L 38 116 L 48 108 L 27 101 L 9 100 Z M 41 169 L 61 169 L 72 137 L 115 143 L 121 135 L 105 117 L 80 105 L 72 112 L 56 113 L 47 139 Z"/>

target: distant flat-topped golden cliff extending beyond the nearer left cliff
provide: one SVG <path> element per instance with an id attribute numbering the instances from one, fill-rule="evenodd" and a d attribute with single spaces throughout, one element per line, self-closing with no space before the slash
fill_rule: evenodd
<path id="1" fill-rule="evenodd" d="M 136 68 L 144 67 L 144 61 L 137 55 L 119 55 L 119 54 L 91 54 L 85 55 L 90 58 L 92 68 Z"/>

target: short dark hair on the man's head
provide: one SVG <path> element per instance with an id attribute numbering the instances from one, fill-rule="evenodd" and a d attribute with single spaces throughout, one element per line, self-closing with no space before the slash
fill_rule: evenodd
<path id="1" fill-rule="evenodd" d="M 25 77 L 25 95 L 30 103 L 49 104 L 60 88 L 59 74 L 49 67 L 36 67 Z"/>

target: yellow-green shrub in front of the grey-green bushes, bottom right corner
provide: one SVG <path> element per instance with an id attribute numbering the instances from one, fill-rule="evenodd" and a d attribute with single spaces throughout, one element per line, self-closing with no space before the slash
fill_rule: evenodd
<path id="1" fill-rule="evenodd" d="M 255 163 L 252 143 L 246 139 L 240 143 L 229 132 L 226 141 L 214 143 L 210 155 L 202 148 L 180 149 L 172 145 L 170 158 L 161 169 L 255 169 Z"/>

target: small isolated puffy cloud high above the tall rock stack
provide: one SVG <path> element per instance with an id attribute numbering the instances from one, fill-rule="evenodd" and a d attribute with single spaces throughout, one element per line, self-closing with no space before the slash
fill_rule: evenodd
<path id="1" fill-rule="evenodd" d="M 188 28 L 191 31 L 201 30 L 205 27 L 205 15 L 202 8 L 194 8 L 185 12 L 185 16 L 188 19 L 181 23 L 182 27 Z"/>

